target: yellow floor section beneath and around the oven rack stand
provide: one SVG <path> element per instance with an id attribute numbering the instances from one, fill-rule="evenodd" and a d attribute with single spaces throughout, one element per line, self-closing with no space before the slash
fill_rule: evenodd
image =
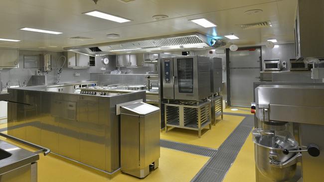
<path id="1" fill-rule="evenodd" d="M 201 138 L 198 131 L 181 128 L 173 128 L 165 133 L 161 132 L 161 139 L 171 140 L 191 145 L 198 145 L 217 149 L 232 133 L 238 124 L 243 120 L 243 116 L 233 116 L 224 114 L 223 120 L 219 120 L 216 125 L 212 125 L 211 130 L 202 130 Z"/>

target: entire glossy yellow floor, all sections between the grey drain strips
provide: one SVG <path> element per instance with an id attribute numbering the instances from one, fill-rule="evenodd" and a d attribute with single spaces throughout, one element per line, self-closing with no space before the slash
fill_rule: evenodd
<path id="1" fill-rule="evenodd" d="M 224 110 L 224 112 L 227 111 Z M 232 112 L 249 113 L 241 109 Z M 212 126 L 211 130 L 204 130 L 201 138 L 198 138 L 197 131 L 175 128 L 167 133 L 162 131 L 161 139 L 218 148 L 243 118 L 242 116 L 224 115 L 224 119 L 218 121 L 216 126 Z M 3 127 L 6 127 L 6 124 L 0 124 L 0 128 Z M 5 140 L 2 137 L 0 139 Z M 6 141 L 29 151 L 35 151 L 19 143 L 10 140 Z M 140 180 L 119 173 L 109 180 L 104 174 L 56 157 L 53 154 L 48 156 L 40 155 L 40 160 L 38 161 L 38 182 L 189 182 L 208 159 L 208 157 L 204 156 L 161 148 L 160 167 L 147 178 Z M 240 182 L 255 181 L 254 150 L 251 135 L 246 140 L 237 159 L 225 176 L 224 182 L 237 182 L 238 179 L 240 179 Z"/>

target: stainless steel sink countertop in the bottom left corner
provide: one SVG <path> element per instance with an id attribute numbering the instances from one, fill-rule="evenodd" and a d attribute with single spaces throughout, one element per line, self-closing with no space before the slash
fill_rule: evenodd
<path id="1" fill-rule="evenodd" d="M 0 175 L 39 160 L 39 156 L 30 151 L 0 140 L 0 149 L 9 150 L 10 157 L 0 160 Z"/>

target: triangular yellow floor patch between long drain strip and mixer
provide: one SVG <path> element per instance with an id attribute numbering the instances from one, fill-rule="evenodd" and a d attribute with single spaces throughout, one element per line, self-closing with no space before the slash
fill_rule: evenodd
<path id="1" fill-rule="evenodd" d="M 255 182 L 254 144 L 248 136 L 223 182 Z"/>

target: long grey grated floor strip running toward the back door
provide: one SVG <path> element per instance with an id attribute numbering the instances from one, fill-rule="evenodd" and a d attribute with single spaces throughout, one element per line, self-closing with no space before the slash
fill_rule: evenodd
<path id="1" fill-rule="evenodd" d="M 234 115 L 230 113 L 231 115 Z M 198 172 L 191 182 L 221 182 L 235 161 L 253 128 L 253 115 L 247 115 L 219 147 L 215 156 Z"/>

